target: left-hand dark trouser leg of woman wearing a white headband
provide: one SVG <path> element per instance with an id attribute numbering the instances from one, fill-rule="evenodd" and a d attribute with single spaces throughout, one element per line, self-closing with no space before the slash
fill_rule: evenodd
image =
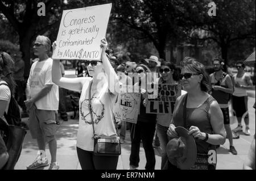
<path id="1" fill-rule="evenodd" d="M 137 168 L 139 166 L 139 148 L 141 145 L 141 123 L 132 124 L 131 126 L 131 154 L 130 166 Z"/>

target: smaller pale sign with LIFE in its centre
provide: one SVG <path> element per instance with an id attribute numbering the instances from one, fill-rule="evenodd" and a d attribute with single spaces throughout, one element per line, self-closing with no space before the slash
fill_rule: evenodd
<path id="1" fill-rule="evenodd" d="M 141 94 L 127 93 L 126 89 L 126 85 L 122 85 L 117 103 L 114 104 L 115 119 L 136 124 L 141 105 Z"/>

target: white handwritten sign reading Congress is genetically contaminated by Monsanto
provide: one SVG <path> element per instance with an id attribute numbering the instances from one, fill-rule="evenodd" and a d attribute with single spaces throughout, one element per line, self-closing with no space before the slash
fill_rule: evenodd
<path id="1" fill-rule="evenodd" d="M 53 59 L 100 60 L 112 3 L 64 10 Z"/>

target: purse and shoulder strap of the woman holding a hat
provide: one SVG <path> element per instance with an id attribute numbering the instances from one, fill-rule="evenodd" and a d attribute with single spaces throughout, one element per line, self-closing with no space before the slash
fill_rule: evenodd
<path id="1" fill-rule="evenodd" d="M 186 111 L 187 99 L 188 99 L 188 94 L 185 95 L 184 106 L 183 106 L 184 128 L 188 130 L 189 128 L 187 123 L 187 111 Z M 209 148 L 210 146 L 211 145 L 209 145 Z M 209 148 L 208 148 L 208 151 L 209 151 Z M 197 153 L 195 165 L 192 166 L 190 170 L 209 170 L 210 168 L 212 169 L 212 165 L 209 164 L 208 158 L 209 158 L 208 154 Z"/>

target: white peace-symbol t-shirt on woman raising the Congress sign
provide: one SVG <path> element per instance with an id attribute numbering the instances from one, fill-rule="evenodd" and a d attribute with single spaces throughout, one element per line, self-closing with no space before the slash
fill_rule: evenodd
<path id="1" fill-rule="evenodd" d="M 89 113 L 89 77 L 82 87 L 79 100 L 79 130 L 77 132 L 77 147 L 86 151 L 93 151 L 93 127 Z M 113 121 L 113 104 L 116 95 L 108 91 L 108 82 L 105 82 L 100 92 L 92 91 L 92 114 L 94 131 L 97 136 L 117 135 Z"/>

